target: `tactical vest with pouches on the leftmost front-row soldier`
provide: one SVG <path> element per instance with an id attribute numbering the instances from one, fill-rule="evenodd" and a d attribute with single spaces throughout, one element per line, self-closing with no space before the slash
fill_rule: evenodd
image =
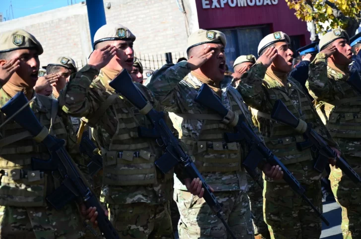
<path id="1" fill-rule="evenodd" d="M 0 96 L 2 107 L 11 97 L 2 89 Z M 64 139 L 65 144 L 69 143 L 66 141 L 67 135 L 74 132 L 69 125 L 64 125 L 63 119 L 57 115 L 54 106 L 58 105 L 54 105 L 55 101 L 46 96 L 36 97 L 35 102 L 40 102 L 40 106 L 32 103 L 32 109 L 37 119 L 45 127 L 51 128 L 50 134 Z M 1 114 L 1 122 L 5 119 Z M 33 140 L 30 133 L 13 120 L 6 123 L 0 133 L 0 205 L 46 206 L 46 196 L 60 183 L 56 183 L 52 175 L 32 170 L 31 158 L 48 160 L 50 154 L 47 148 Z"/>

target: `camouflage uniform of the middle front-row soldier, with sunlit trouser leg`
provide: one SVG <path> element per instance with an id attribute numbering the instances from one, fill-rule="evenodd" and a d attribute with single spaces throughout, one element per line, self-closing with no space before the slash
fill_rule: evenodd
<path id="1" fill-rule="evenodd" d="M 212 81 L 207 83 L 210 85 Z M 213 113 L 194 102 L 202 82 L 193 72 L 190 73 L 187 62 L 181 61 L 176 65 L 163 66 L 145 84 L 165 110 L 170 112 L 181 143 L 187 148 L 204 180 L 214 188 L 218 201 L 223 203 L 225 219 L 236 237 L 254 238 L 249 200 L 245 194 L 247 182 L 241 169 L 241 159 L 247 149 L 244 144 L 222 142 L 223 133 L 233 131 L 230 126 L 219 120 L 202 119 Z M 247 119 L 251 121 L 241 95 L 229 80 L 222 81 L 220 88 L 213 89 L 222 95 L 225 107 L 237 114 L 246 112 Z M 192 114 L 199 115 L 194 119 Z M 178 225 L 180 239 L 230 238 L 222 222 L 212 214 L 203 198 L 199 199 L 187 192 L 176 177 L 174 188 L 174 200 L 181 214 Z"/>

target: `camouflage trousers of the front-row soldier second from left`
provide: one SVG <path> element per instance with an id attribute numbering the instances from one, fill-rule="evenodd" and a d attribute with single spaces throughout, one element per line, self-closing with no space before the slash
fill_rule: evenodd
<path id="1" fill-rule="evenodd" d="M 170 202 L 108 204 L 108 210 L 121 239 L 174 239 Z"/>

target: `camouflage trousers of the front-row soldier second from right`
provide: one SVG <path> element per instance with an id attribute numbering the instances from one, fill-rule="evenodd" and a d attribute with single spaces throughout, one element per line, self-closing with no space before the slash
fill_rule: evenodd
<path id="1" fill-rule="evenodd" d="M 320 181 L 302 185 L 305 195 L 322 212 Z M 264 182 L 263 213 L 271 239 L 319 239 L 321 219 L 288 184 Z"/>

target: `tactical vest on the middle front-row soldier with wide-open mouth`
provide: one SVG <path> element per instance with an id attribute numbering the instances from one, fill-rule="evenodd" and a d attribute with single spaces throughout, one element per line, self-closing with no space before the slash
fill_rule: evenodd
<path id="1" fill-rule="evenodd" d="M 184 80 L 189 84 L 189 87 L 193 87 L 199 90 L 187 76 Z M 241 109 L 242 103 L 239 100 L 237 102 L 235 95 L 238 93 L 230 91 L 234 89 L 231 87 L 228 92 L 228 96 L 231 103 L 231 109 L 236 114 L 242 115 L 242 112 L 247 112 L 246 109 Z M 224 133 L 234 132 L 234 129 L 227 124 L 221 122 L 218 115 L 211 110 L 204 109 L 201 114 L 175 114 L 169 113 L 175 127 L 181 125 L 181 129 L 177 128 L 180 133 L 182 143 L 184 143 L 188 149 L 188 154 L 192 155 L 195 159 L 194 164 L 197 166 L 199 172 L 234 172 L 241 171 L 241 159 L 246 156 L 245 144 L 240 143 L 226 143 L 224 141 Z M 194 138 L 185 137 L 182 135 L 183 130 L 191 130 L 185 123 L 178 123 L 178 120 L 182 119 L 203 119 L 201 130 L 199 131 L 198 140 Z M 248 115 L 248 119 L 249 115 Z M 177 122 L 177 123 L 176 123 Z"/>

